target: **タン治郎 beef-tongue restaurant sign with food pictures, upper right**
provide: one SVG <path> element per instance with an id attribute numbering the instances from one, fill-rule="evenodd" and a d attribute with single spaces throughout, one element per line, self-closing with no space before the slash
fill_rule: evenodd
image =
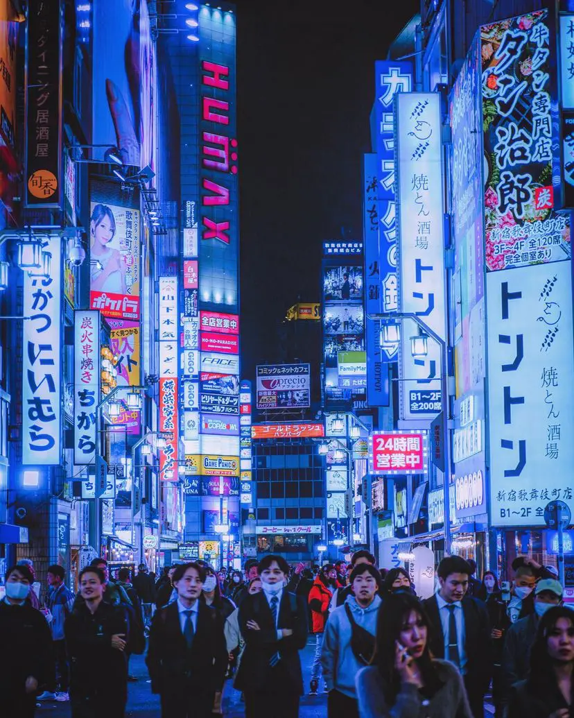
<path id="1" fill-rule="evenodd" d="M 554 19 L 549 10 L 481 27 L 486 269 L 570 258 L 559 215 Z"/>

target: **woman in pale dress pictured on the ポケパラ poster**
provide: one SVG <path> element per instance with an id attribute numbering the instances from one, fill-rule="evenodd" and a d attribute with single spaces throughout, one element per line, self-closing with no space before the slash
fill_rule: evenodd
<path id="1" fill-rule="evenodd" d="M 108 205 L 93 206 L 90 218 L 90 289 L 92 292 L 126 294 L 126 263 L 113 248 L 116 218 Z"/>

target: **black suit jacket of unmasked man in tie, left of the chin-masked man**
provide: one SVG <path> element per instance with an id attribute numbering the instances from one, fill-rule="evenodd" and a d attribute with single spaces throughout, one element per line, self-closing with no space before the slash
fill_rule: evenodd
<path id="1" fill-rule="evenodd" d="M 223 620 L 215 609 L 199 602 L 197 630 L 187 648 L 179 622 L 177 602 L 156 611 L 149 633 L 146 664 L 151 690 L 173 696 L 189 691 L 213 694 L 220 691 L 227 669 L 227 646 Z"/>

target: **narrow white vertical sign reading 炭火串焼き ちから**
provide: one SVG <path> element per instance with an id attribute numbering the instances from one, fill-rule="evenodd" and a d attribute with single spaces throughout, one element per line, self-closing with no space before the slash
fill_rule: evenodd
<path id="1" fill-rule="evenodd" d="M 93 464 L 100 402 L 100 312 L 74 312 L 74 463 Z"/>

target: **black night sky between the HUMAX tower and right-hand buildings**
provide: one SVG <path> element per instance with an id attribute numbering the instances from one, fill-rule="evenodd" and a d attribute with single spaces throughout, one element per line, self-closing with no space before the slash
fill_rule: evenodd
<path id="1" fill-rule="evenodd" d="M 362 235 L 375 60 L 418 0 L 236 0 L 243 376 L 276 353 L 321 242 Z M 392 10 L 390 10 L 392 6 Z"/>

